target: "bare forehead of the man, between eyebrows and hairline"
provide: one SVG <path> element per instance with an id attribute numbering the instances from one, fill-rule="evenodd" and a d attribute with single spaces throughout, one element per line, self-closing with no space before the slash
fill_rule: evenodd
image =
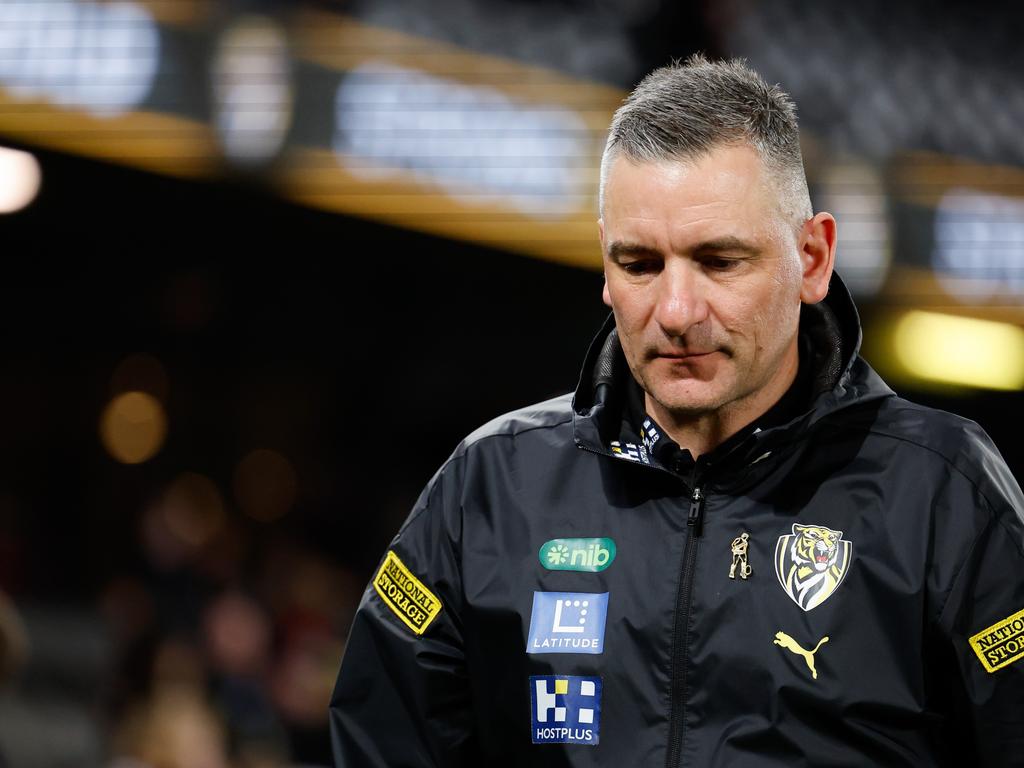
<path id="1" fill-rule="evenodd" d="M 779 225 L 777 196 L 758 153 L 720 146 L 694 160 L 615 158 L 605 181 L 606 239 L 684 248 L 725 236 L 761 240 Z"/>

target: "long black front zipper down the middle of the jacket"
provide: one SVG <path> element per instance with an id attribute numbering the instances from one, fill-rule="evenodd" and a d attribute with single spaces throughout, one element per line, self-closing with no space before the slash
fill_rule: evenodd
<path id="1" fill-rule="evenodd" d="M 696 468 L 690 495 L 690 510 L 686 516 L 689 535 L 683 549 L 683 572 L 676 597 L 676 627 L 672 638 L 672 716 L 669 720 L 669 754 L 667 768 L 676 768 L 682 760 L 683 719 L 686 714 L 686 665 L 689 650 L 690 604 L 693 597 L 693 568 L 697 560 L 697 540 L 703 531 L 705 496 L 696 484 Z"/>

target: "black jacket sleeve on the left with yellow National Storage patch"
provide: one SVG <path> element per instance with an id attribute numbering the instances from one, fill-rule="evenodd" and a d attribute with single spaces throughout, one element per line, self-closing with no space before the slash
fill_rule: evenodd
<path id="1" fill-rule="evenodd" d="M 330 705 L 339 768 L 462 766 L 475 754 L 459 617 L 460 463 L 423 492 L 352 622 Z"/>

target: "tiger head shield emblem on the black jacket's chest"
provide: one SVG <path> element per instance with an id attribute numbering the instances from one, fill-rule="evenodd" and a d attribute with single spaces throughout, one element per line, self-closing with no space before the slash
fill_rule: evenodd
<path id="1" fill-rule="evenodd" d="M 852 559 L 853 544 L 842 530 L 794 523 L 775 545 L 775 575 L 797 605 L 811 610 L 831 597 Z"/>

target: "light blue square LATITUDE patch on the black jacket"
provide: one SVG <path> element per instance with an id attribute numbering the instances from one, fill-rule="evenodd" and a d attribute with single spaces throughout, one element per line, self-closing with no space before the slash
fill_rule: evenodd
<path id="1" fill-rule="evenodd" d="M 601 653 L 608 593 L 535 592 L 527 653 Z"/>

